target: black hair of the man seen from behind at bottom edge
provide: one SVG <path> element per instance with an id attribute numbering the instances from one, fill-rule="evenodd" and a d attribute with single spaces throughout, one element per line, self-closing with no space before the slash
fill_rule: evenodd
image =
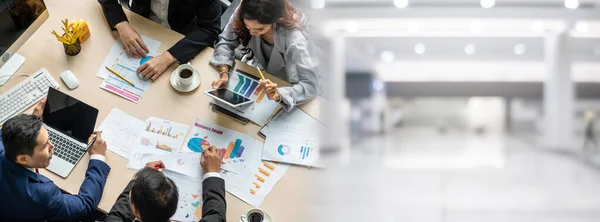
<path id="1" fill-rule="evenodd" d="M 152 168 L 135 174 L 131 187 L 131 203 L 144 222 L 165 222 L 177 211 L 179 193 L 173 180 Z"/>

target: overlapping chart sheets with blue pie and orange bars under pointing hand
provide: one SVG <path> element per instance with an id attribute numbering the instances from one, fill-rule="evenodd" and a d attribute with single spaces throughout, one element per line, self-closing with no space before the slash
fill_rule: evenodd
<path id="1" fill-rule="evenodd" d="M 221 175 L 226 190 L 254 207 L 260 206 L 290 167 L 262 161 L 264 144 L 254 137 L 197 119 L 181 152 L 201 153 L 209 146 L 223 155 Z"/>

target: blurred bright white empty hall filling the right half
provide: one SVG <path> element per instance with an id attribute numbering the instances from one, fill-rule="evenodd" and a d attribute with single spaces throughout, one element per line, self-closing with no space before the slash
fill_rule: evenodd
<path id="1" fill-rule="evenodd" d="M 600 1 L 303 2 L 330 126 L 311 213 L 600 218 Z"/>

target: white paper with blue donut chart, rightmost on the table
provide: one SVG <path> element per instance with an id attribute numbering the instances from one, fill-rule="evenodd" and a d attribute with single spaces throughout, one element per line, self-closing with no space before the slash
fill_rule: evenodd
<path id="1" fill-rule="evenodd" d="M 300 109 L 280 111 L 260 132 L 265 135 L 263 160 L 305 166 L 319 162 L 319 135 L 325 126 Z"/>

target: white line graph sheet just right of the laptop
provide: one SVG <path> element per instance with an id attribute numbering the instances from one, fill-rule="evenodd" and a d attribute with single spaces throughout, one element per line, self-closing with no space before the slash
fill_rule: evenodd
<path id="1" fill-rule="evenodd" d="M 129 159 L 143 128 L 144 121 L 113 108 L 98 130 L 102 131 L 108 150 Z"/>

